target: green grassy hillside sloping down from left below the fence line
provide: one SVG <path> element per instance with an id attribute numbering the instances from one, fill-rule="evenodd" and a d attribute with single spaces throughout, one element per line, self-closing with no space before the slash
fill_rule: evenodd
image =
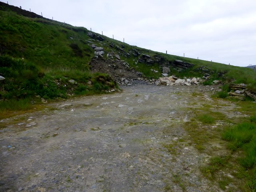
<path id="1" fill-rule="evenodd" d="M 3 100 L 7 102 L 34 96 L 44 99 L 67 98 L 117 88 L 116 82 L 107 74 L 90 72 L 90 61 L 94 58 L 94 50 L 90 47 L 92 44 L 104 48 L 104 60 L 115 59 L 108 58 L 107 54 L 119 54 L 130 67 L 147 78 L 160 77 L 163 66 L 168 66 L 170 74 L 180 78 L 202 77 L 204 71 L 198 69 L 205 66 L 211 72 L 209 83 L 218 79 L 251 84 L 252 89 L 256 87 L 255 72 L 250 68 L 154 52 L 93 33 L 101 38 L 98 40 L 88 36 L 88 32 L 86 28 L 42 18 L 1 2 L 0 75 L 6 78 L 0 81 L 1 105 Z M 160 56 L 162 63 L 141 62 L 142 54 L 150 58 Z M 177 70 L 169 65 L 174 60 L 189 62 L 194 66 Z M 74 82 L 70 83 L 69 80 Z"/>

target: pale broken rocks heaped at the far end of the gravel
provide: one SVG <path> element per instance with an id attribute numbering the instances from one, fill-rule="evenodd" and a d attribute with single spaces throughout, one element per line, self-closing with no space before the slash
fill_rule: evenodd
<path id="1" fill-rule="evenodd" d="M 159 85 L 198 85 L 203 80 L 201 78 L 184 78 L 180 79 L 175 77 L 174 75 L 169 77 L 160 77 Z"/>

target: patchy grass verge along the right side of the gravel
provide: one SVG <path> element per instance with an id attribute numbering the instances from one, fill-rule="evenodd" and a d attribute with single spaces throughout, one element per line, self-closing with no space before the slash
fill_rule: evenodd
<path id="1" fill-rule="evenodd" d="M 243 192 L 255 192 L 256 103 L 236 101 L 234 104 L 236 108 L 233 110 L 237 114 L 246 114 L 246 118 L 242 115 L 240 118 L 226 118 L 204 105 L 193 110 L 196 117 L 185 123 L 186 131 L 190 144 L 210 156 L 201 167 L 206 178 L 224 191 L 238 188 Z"/>

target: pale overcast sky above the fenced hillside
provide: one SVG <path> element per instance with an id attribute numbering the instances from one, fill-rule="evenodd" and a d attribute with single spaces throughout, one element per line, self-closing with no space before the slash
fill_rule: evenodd
<path id="1" fill-rule="evenodd" d="M 3 1 L 6 2 L 7 1 Z M 8 0 L 130 45 L 256 65 L 256 0 Z"/>

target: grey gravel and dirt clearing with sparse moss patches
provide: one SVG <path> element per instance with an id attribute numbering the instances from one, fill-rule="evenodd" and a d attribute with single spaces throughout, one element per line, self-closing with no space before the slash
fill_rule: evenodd
<path id="1" fill-rule="evenodd" d="M 2 120 L 14 123 L 0 133 L 0 191 L 221 191 L 199 171 L 207 156 L 184 141 L 189 107 L 209 104 L 210 94 L 127 86 Z"/>

